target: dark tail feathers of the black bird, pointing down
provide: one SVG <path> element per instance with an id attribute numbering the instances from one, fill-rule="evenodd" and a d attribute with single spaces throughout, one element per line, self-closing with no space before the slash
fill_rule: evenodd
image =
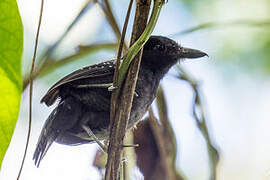
<path id="1" fill-rule="evenodd" d="M 37 167 L 39 167 L 40 161 L 43 159 L 43 157 L 47 153 L 47 151 L 48 151 L 49 147 L 52 145 L 53 141 L 59 135 L 59 130 L 54 129 L 51 126 L 51 123 L 53 122 L 56 113 L 57 113 L 57 108 L 55 108 L 53 110 L 53 112 L 50 114 L 50 116 L 46 120 L 46 123 L 42 129 L 40 136 L 39 136 L 36 150 L 35 150 L 34 156 L 33 156 L 33 160 L 35 161 L 35 165 Z"/>

